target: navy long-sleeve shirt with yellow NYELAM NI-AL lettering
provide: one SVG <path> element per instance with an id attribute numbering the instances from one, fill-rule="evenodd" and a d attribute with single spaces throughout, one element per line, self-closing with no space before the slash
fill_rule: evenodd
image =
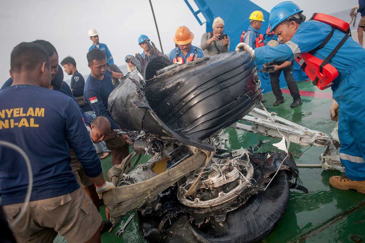
<path id="1" fill-rule="evenodd" d="M 71 171 L 69 145 L 85 174 L 97 177 L 100 160 L 85 128 L 80 109 L 70 97 L 55 90 L 15 85 L 0 91 L 0 137 L 22 148 L 31 161 L 31 201 L 73 192 L 79 185 Z M 28 173 L 24 159 L 0 147 L 1 204 L 24 201 Z"/>

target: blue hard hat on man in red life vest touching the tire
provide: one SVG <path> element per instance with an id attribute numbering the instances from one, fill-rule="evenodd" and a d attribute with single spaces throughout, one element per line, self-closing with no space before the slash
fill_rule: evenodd
<path id="1" fill-rule="evenodd" d="M 270 11 L 269 25 L 271 26 L 271 30 L 274 30 L 278 24 L 287 20 L 290 16 L 302 12 L 303 10 L 292 1 L 285 1 L 277 4 Z"/>

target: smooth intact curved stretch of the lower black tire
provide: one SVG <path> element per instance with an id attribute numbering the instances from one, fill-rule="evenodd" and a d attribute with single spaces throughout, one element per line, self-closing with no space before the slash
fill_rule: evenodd
<path id="1" fill-rule="evenodd" d="M 239 209 L 227 214 L 228 230 L 219 234 L 201 232 L 181 215 L 170 228 L 169 243 L 252 243 L 268 235 L 283 217 L 289 202 L 289 176 L 282 170 L 269 188 L 250 198 Z M 206 230 L 206 229 L 205 229 Z M 214 232 L 212 229 L 211 232 Z"/>

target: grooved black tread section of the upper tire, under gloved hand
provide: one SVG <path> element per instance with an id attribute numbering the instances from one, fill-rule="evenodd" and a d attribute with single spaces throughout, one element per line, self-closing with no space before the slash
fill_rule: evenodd
<path id="1" fill-rule="evenodd" d="M 202 141 L 241 119 L 262 99 L 256 77 L 247 53 L 228 52 L 147 80 L 145 93 L 169 128 Z"/>

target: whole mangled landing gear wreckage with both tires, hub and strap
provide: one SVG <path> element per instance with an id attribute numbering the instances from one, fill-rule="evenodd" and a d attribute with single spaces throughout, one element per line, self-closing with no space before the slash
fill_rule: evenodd
<path id="1" fill-rule="evenodd" d="M 178 65 L 150 50 L 133 57 L 136 69 L 108 100 L 111 117 L 128 129 L 116 131 L 134 148 L 108 171 L 116 188 L 103 197 L 114 226 L 137 209 L 149 242 L 260 241 L 283 216 L 290 189 L 306 189 L 285 152 L 217 153 L 214 136 L 262 100 L 253 60 L 241 51 Z M 129 171 L 137 154 L 153 157 Z"/>

